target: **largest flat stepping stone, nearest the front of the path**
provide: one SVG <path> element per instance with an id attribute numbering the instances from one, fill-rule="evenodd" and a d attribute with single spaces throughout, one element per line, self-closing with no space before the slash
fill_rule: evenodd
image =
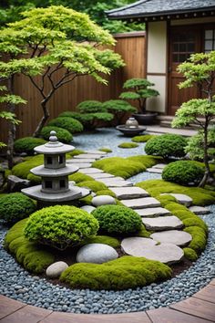
<path id="1" fill-rule="evenodd" d="M 178 263 L 184 255 L 178 245 L 151 242 L 151 239 L 129 237 L 122 240 L 121 247 L 128 255 L 143 256 L 150 260 L 157 260 L 164 264 Z"/>

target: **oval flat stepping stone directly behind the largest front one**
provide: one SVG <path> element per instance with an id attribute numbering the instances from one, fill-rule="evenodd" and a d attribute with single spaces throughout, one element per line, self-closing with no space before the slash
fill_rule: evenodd
<path id="1" fill-rule="evenodd" d="M 167 243 L 173 245 L 188 245 L 192 240 L 191 234 L 185 231 L 169 230 L 155 234 L 151 234 L 150 237 L 160 243 Z"/>

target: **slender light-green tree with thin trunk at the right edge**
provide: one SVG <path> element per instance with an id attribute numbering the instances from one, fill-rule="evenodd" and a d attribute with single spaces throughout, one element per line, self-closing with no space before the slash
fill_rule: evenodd
<path id="1" fill-rule="evenodd" d="M 215 51 L 211 51 L 208 54 L 192 54 L 186 62 L 179 65 L 179 73 L 183 73 L 186 78 L 179 84 L 179 89 L 197 85 L 205 99 L 190 99 L 183 103 L 176 112 L 176 118 L 172 121 L 172 126 L 178 128 L 189 125 L 190 122 L 200 126 L 205 164 L 205 174 L 200 187 L 205 185 L 210 176 L 209 130 L 210 121 L 215 119 L 214 63 Z"/>

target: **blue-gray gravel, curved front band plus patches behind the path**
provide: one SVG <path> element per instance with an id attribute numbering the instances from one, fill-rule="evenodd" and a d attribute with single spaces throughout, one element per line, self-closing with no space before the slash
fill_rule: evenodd
<path id="1" fill-rule="evenodd" d="M 118 143 L 129 141 L 129 139 L 125 140 L 124 137 L 118 139 L 118 137 L 115 137 L 115 131 L 104 131 L 107 136 L 102 136 L 102 138 L 98 135 L 94 135 L 93 138 L 85 135 L 78 136 L 75 138 L 74 145 L 77 148 L 87 150 L 98 149 L 102 146 L 110 147 L 114 150 L 113 155 L 115 156 L 126 156 L 126 152 L 127 155 L 143 153 L 142 144 L 140 144 L 141 148 L 138 147 L 138 149 L 134 150 L 121 149 L 119 152 Z M 111 138 L 112 141 L 109 141 Z M 97 139 L 102 143 L 97 143 Z M 122 151 L 124 151 L 125 155 L 122 154 Z M 139 182 L 148 178 L 159 178 L 159 176 L 158 174 L 143 172 L 134 176 L 132 182 Z M 213 265 L 215 263 L 215 246 L 213 243 L 215 241 L 215 205 L 210 205 L 209 208 L 210 214 L 201 216 L 210 228 L 208 245 L 193 266 L 164 283 L 118 292 L 91 291 L 89 289 L 71 290 L 66 287 L 54 286 L 47 282 L 46 279 L 40 279 L 38 276 L 29 275 L 3 249 L 2 241 L 6 228 L 0 224 L 0 294 L 37 307 L 74 313 L 111 314 L 169 306 L 169 304 L 178 302 L 198 292 L 200 288 L 205 287 L 215 277 Z"/>

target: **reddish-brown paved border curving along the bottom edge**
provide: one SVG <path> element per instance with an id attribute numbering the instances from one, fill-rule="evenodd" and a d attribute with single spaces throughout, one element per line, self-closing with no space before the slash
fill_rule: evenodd
<path id="1" fill-rule="evenodd" d="M 33 307 L 0 296 L 1 323 L 210 323 L 215 322 L 215 279 L 170 307 L 124 314 L 73 314 Z"/>

